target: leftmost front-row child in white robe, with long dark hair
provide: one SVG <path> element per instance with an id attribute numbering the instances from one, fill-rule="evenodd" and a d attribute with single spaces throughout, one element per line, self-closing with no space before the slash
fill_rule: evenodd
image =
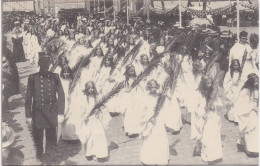
<path id="1" fill-rule="evenodd" d="M 77 133 L 87 159 L 104 161 L 107 160 L 109 155 L 109 143 L 105 130 L 108 127 L 110 115 L 105 108 L 94 110 L 94 114 L 90 115 L 92 108 L 98 101 L 98 94 L 93 82 L 86 84 L 83 93 L 84 99 L 81 102 L 82 117 L 78 119 L 80 127 L 77 129 Z"/>

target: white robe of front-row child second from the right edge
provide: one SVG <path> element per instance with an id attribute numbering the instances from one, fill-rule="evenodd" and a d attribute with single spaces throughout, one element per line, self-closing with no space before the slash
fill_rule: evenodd
<path id="1" fill-rule="evenodd" d="M 221 122 L 218 110 L 206 112 L 206 99 L 197 91 L 191 115 L 191 138 L 201 141 L 201 158 L 205 162 L 222 158 Z M 207 115 L 203 117 L 204 115 Z"/>

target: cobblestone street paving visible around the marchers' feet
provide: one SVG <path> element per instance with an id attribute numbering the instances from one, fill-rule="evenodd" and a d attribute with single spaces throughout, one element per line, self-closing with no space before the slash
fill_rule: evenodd
<path id="1" fill-rule="evenodd" d="M 36 72 L 36 68 L 31 66 L 29 62 L 18 63 L 17 66 L 21 94 L 12 96 L 9 99 L 11 109 L 8 112 L 3 112 L 3 121 L 8 123 L 15 131 L 16 140 L 12 146 L 23 152 L 25 156 L 24 164 L 38 165 L 41 163 L 35 157 L 35 146 L 30 129 L 25 122 L 24 110 L 24 96 L 28 75 Z M 224 112 L 222 115 L 223 162 L 218 165 L 257 165 L 258 158 L 248 158 L 244 153 L 237 152 L 238 127 L 224 118 Z M 80 142 L 68 144 L 59 140 L 55 165 L 122 165 L 123 163 L 140 165 L 139 150 L 141 140 L 139 138 L 130 140 L 125 136 L 122 126 L 122 116 L 112 118 L 108 133 L 111 140 L 119 145 L 119 148 L 110 152 L 109 161 L 105 163 L 88 161 L 83 154 Z M 190 140 L 190 125 L 184 124 L 181 132 L 177 135 L 168 133 L 168 139 L 169 144 L 173 145 L 178 153 L 177 156 L 171 156 L 169 165 L 205 165 L 200 157 L 192 156 L 195 141 Z"/>

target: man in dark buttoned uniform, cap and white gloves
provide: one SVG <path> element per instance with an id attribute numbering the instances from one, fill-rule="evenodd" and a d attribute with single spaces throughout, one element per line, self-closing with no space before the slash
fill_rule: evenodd
<path id="1" fill-rule="evenodd" d="M 32 125 L 38 159 L 43 156 L 43 136 L 46 135 L 45 153 L 48 160 L 55 157 L 57 126 L 62 122 L 65 96 L 58 74 L 48 71 L 50 57 L 39 53 L 40 71 L 28 78 L 25 96 L 26 122 Z M 57 98 L 56 98 L 57 96 Z"/>

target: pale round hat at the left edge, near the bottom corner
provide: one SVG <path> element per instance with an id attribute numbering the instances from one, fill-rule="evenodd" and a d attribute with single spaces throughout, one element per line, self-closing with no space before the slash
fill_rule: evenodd
<path id="1" fill-rule="evenodd" d="M 15 139 L 15 133 L 7 124 L 2 123 L 2 148 L 10 146 Z"/>

